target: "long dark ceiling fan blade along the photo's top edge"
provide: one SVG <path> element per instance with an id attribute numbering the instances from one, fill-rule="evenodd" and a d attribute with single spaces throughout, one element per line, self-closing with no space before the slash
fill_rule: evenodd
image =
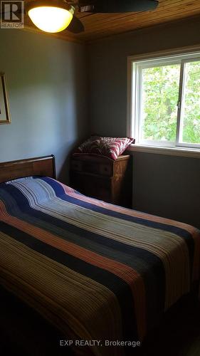
<path id="1" fill-rule="evenodd" d="M 93 1 L 90 5 L 84 4 L 85 1 L 79 1 L 80 12 L 93 13 L 117 13 L 117 12 L 133 12 L 133 11 L 149 11 L 154 10 L 158 6 L 157 0 L 101 0 Z"/>

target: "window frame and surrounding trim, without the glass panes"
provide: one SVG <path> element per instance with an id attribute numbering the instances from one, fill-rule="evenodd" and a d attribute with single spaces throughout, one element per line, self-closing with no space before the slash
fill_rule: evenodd
<path id="1" fill-rule="evenodd" d="M 135 137 L 136 146 L 154 147 L 177 150 L 193 150 L 200 152 L 199 144 L 179 142 L 182 112 L 181 105 L 184 102 L 184 66 L 191 61 L 200 61 L 200 48 L 180 48 L 172 51 L 162 51 L 159 53 L 148 53 L 142 56 L 130 56 L 127 58 L 127 135 Z M 142 142 L 140 117 L 142 111 L 142 68 L 149 68 L 164 64 L 180 64 L 179 99 L 177 103 L 177 137 L 176 142 L 148 141 Z"/>

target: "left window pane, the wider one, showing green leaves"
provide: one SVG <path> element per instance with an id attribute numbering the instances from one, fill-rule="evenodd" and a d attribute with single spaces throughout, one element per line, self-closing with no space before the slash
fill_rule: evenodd
<path id="1" fill-rule="evenodd" d="M 180 65 L 142 69 L 142 140 L 175 142 Z"/>

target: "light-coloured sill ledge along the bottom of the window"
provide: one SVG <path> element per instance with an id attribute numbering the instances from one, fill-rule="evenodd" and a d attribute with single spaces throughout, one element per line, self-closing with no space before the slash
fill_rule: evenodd
<path id="1" fill-rule="evenodd" d="M 200 149 L 188 147 L 155 147 L 145 145 L 130 145 L 127 151 L 155 153 L 157 155 L 200 158 Z"/>

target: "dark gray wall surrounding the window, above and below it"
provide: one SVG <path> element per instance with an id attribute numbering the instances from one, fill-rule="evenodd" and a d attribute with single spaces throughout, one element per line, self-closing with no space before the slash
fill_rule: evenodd
<path id="1" fill-rule="evenodd" d="M 147 28 L 90 46 L 90 127 L 127 135 L 127 56 L 200 43 L 199 19 Z M 135 152 L 134 207 L 200 228 L 200 159 Z"/>

